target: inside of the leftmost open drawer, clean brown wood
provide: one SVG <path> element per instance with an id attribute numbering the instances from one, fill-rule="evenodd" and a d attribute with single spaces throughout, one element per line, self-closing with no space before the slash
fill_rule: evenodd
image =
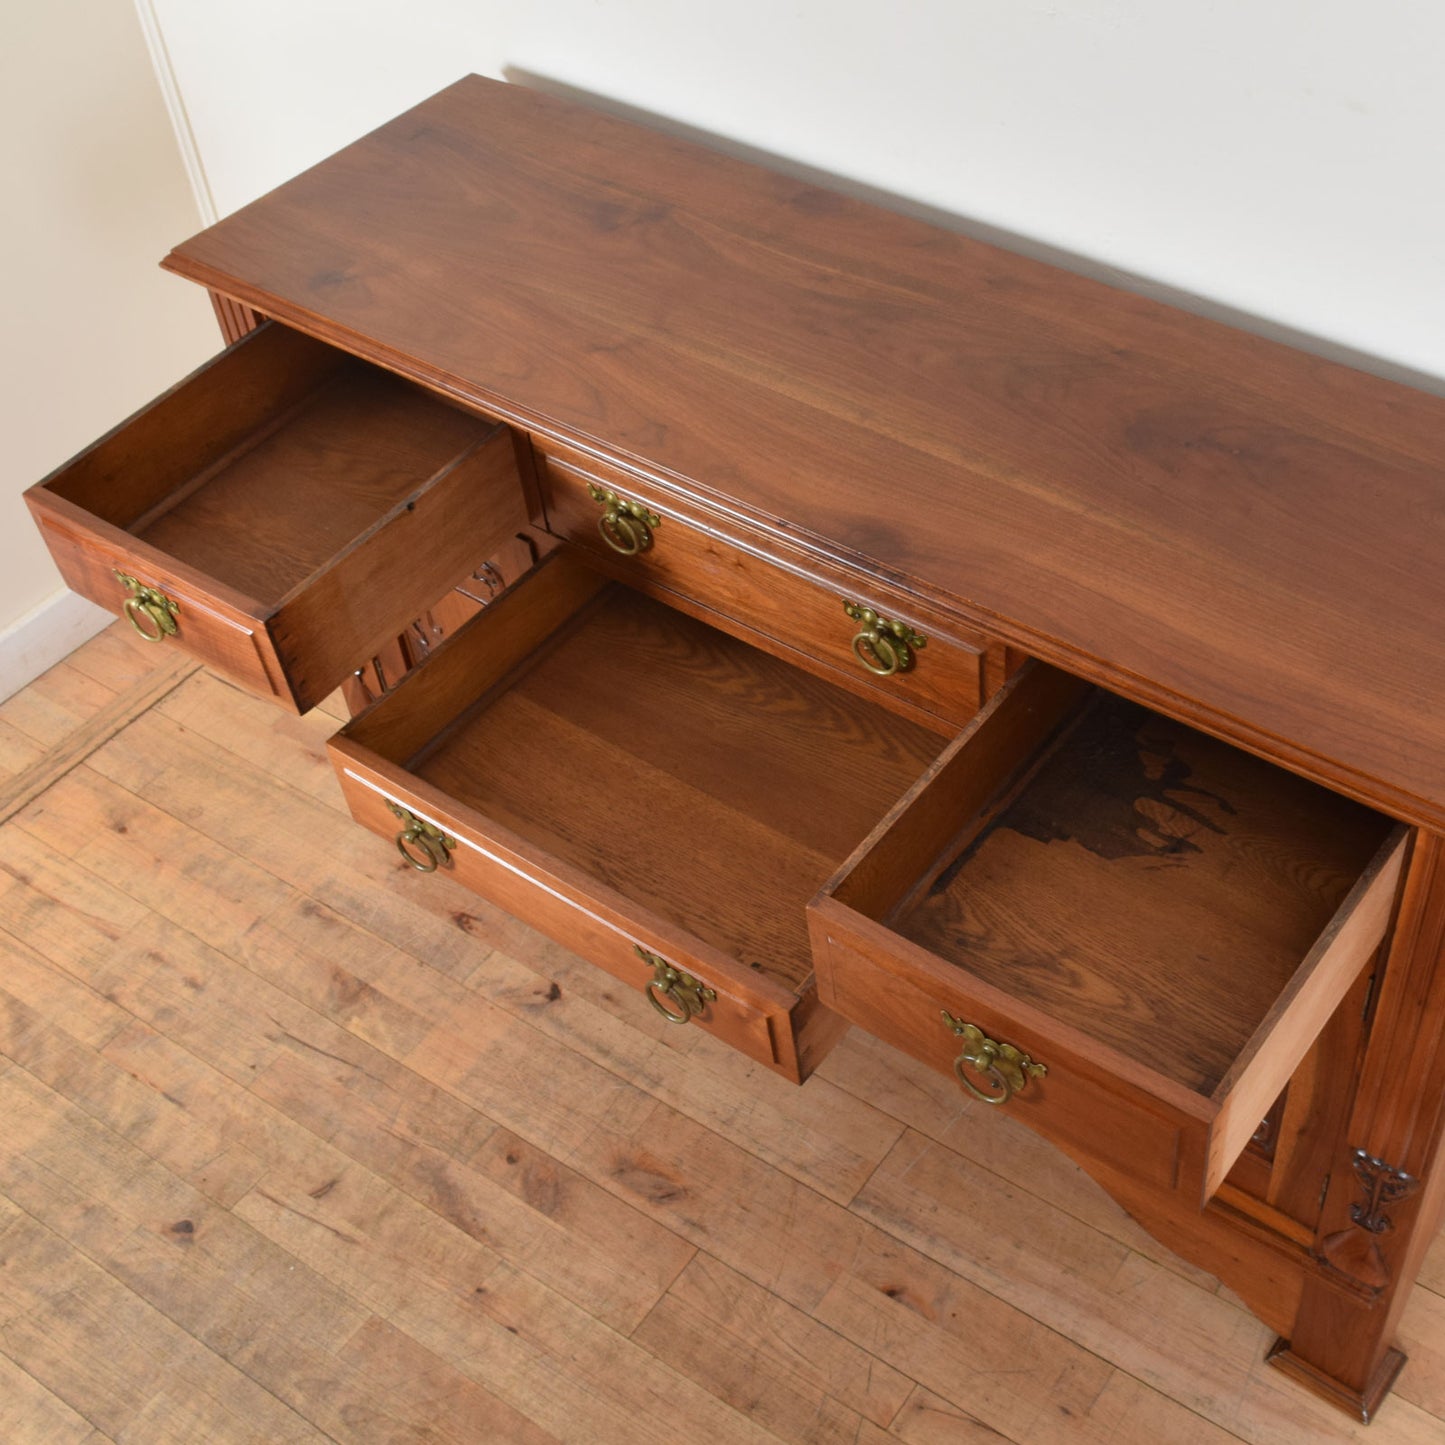
<path id="1" fill-rule="evenodd" d="M 273 605 L 491 429 L 387 371 L 270 325 L 48 486 Z"/>

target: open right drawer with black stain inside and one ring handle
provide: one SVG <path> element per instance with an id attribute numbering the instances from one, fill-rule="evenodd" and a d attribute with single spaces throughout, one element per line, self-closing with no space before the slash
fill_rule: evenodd
<path id="1" fill-rule="evenodd" d="M 822 1001 L 1202 1204 L 1392 916 L 1405 829 L 1039 663 L 809 907 Z"/>

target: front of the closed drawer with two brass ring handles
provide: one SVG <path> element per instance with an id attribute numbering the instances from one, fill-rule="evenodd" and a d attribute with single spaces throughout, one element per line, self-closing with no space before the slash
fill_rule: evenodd
<path id="1" fill-rule="evenodd" d="M 961 725 L 978 709 L 988 660 L 983 637 L 957 630 L 944 634 L 936 621 L 922 618 L 907 603 L 900 605 L 876 582 L 825 579 L 760 556 L 738 539 L 683 514 L 675 503 L 659 503 L 639 491 L 634 478 L 591 458 L 555 444 L 543 444 L 539 458 L 549 529 L 605 559 L 613 575 L 644 591 L 696 603 L 708 610 L 708 620 L 731 623 L 738 636 L 767 639 L 775 647 L 827 668 L 834 681 L 876 691 L 944 722 Z M 608 504 L 598 503 L 590 488 L 640 510 L 604 529 L 600 523 Z M 647 514 L 659 520 L 653 523 Z M 626 555 L 618 551 L 633 546 L 637 551 Z M 850 617 L 845 603 L 867 607 L 883 623 L 897 623 L 925 639 L 922 646 L 909 646 L 906 669 L 880 676 L 860 660 L 861 652 L 874 668 L 886 666 L 889 650 L 894 657 L 902 655 L 900 639 L 884 630 L 877 644 L 860 642 L 855 652 L 854 639 L 867 631 L 868 623 Z"/>

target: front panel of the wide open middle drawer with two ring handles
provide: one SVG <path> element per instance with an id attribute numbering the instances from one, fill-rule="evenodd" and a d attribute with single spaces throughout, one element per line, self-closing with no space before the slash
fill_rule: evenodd
<path id="1" fill-rule="evenodd" d="M 334 740 L 332 760 L 347 806 L 363 827 L 397 845 L 409 825 L 397 818 L 392 805 L 405 808 L 451 840 L 447 860 L 436 871 L 639 990 L 643 994 L 637 1000 L 639 1009 L 656 1009 L 659 1017 L 666 1013 L 678 1026 L 702 1029 L 759 1064 L 798 1078 L 799 1058 L 789 1009 L 762 1006 L 756 998 L 743 996 L 717 970 L 715 961 L 694 957 L 678 945 L 676 938 L 662 941 L 650 936 L 620 916 L 610 900 L 588 896 L 575 879 L 558 877 L 548 868 L 546 860 L 488 835 L 475 827 L 474 819 L 462 824 L 436 799 L 419 798 L 413 790 L 397 786 L 396 779 L 380 777 L 348 756 L 344 741 Z M 420 861 L 429 861 L 420 848 L 412 847 L 410 851 Z M 639 948 L 686 974 L 711 997 L 694 996 L 686 981 L 672 983 L 669 990 L 655 964 Z"/>

